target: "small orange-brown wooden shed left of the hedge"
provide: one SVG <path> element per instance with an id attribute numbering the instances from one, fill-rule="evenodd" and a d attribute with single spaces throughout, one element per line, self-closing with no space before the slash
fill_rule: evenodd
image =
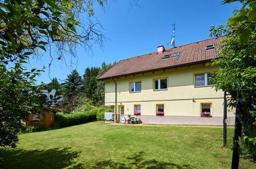
<path id="1" fill-rule="evenodd" d="M 56 119 L 56 113 L 61 110 L 58 108 L 43 108 L 42 113 L 29 114 L 27 121 L 25 122 L 26 126 L 46 124 L 48 128 L 52 126 L 52 123 Z"/>

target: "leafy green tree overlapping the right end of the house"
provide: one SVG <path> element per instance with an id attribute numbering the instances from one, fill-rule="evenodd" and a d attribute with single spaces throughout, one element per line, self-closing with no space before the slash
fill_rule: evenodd
<path id="1" fill-rule="evenodd" d="M 231 2 L 234 1 L 224 1 L 224 3 Z M 237 90 L 242 91 L 243 132 L 246 135 L 247 145 L 250 145 L 248 151 L 251 151 L 255 157 L 256 1 L 241 1 L 241 3 L 243 7 L 234 11 L 234 15 L 227 20 L 226 25 L 210 27 L 211 36 L 226 36 L 219 47 L 219 58 L 212 60 L 211 63 L 212 66 L 220 68 L 212 81 L 216 83 L 216 90 L 227 91 L 231 94 L 229 107 L 235 106 Z"/>

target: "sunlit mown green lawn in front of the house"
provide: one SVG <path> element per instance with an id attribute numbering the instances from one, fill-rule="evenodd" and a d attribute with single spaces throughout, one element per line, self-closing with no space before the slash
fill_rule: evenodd
<path id="1" fill-rule="evenodd" d="M 2 148 L 5 168 L 230 168 L 222 129 L 89 122 L 19 135 Z M 229 145 L 233 129 L 228 129 Z M 1 167 L 0 167 L 1 168 Z M 240 168 L 256 168 L 241 158 Z"/>

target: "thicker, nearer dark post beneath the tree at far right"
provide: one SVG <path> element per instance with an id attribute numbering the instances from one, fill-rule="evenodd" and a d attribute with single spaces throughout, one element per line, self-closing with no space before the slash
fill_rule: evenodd
<path id="1" fill-rule="evenodd" d="M 242 110 L 243 110 L 243 100 L 241 99 L 241 91 L 237 91 L 237 103 L 235 109 L 235 126 L 234 126 L 234 137 L 233 137 L 233 155 L 232 155 L 232 169 L 237 169 L 239 167 L 239 137 L 242 135 Z"/>

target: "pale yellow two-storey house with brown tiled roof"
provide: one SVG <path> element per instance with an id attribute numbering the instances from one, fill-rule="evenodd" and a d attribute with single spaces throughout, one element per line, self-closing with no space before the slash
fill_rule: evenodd
<path id="1" fill-rule="evenodd" d="M 218 57 L 224 37 L 211 38 L 119 61 L 100 76 L 105 81 L 105 105 L 115 107 L 115 119 L 137 115 L 143 123 L 222 124 L 223 92 L 209 79 L 218 67 L 206 66 Z M 228 112 L 229 123 L 234 115 Z"/>

